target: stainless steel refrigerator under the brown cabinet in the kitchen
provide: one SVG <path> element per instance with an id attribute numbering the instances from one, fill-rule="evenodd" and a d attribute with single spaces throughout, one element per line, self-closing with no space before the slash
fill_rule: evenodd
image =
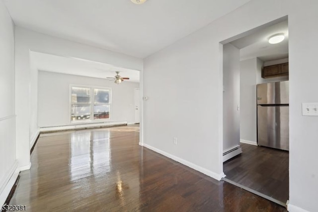
<path id="1" fill-rule="evenodd" d="M 257 85 L 257 144 L 289 150 L 289 82 Z"/>

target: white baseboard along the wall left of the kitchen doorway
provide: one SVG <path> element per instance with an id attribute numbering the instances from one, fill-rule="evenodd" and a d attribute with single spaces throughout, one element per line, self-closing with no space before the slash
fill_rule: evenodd
<path id="1" fill-rule="evenodd" d="M 139 145 L 141 145 L 141 144 L 139 144 Z M 177 161 L 177 162 L 179 162 L 179 163 L 181 163 L 181 164 L 183 164 L 185 166 L 188 166 L 188 167 L 190 167 L 190 168 L 192 168 L 192 169 L 194 169 L 196 171 L 199 171 L 199 172 L 201 172 L 201 173 L 203 173 L 203 174 L 205 174 L 205 175 L 207 175 L 209 177 L 212 177 L 212 178 L 214 178 L 214 179 L 216 179 L 218 181 L 220 181 L 223 177 L 225 177 L 224 173 L 217 174 L 217 173 L 212 172 L 212 171 L 210 171 L 208 169 L 205 169 L 205 168 L 203 168 L 201 166 L 198 166 L 198 165 L 196 165 L 194 163 L 191 163 L 191 162 L 189 162 L 187 160 L 184 160 L 182 158 L 176 157 L 176 156 L 171 155 L 171 154 L 169 154 L 167 152 L 159 150 L 159 149 L 157 149 L 157 148 L 155 148 L 155 147 L 153 147 L 151 145 L 144 144 L 143 146 L 148 148 L 148 149 L 151 149 L 151 150 L 153 150 L 153 151 L 155 151 L 155 152 L 157 152 L 157 153 L 159 153 L 159 154 L 161 154 L 161 155 L 163 155 L 165 157 L 168 157 L 168 158 L 170 158 L 172 160 L 175 160 L 175 161 Z"/>

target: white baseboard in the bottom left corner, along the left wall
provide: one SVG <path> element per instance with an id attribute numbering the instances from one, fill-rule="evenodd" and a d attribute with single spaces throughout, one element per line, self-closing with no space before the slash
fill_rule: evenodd
<path id="1" fill-rule="evenodd" d="M 2 206 L 8 197 L 18 175 L 19 175 L 20 169 L 18 167 L 18 162 L 15 161 L 13 164 L 12 169 L 9 171 L 6 179 L 1 183 L 0 187 L 0 206 Z"/>

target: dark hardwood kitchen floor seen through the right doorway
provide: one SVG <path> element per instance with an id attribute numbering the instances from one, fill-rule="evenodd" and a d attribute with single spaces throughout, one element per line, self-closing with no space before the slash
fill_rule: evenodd
<path id="1" fill-rule="evenodd" d="M 241 143 L 242 153 L 224 163 L 226 178 L 286 203 L 288 151 Z"/>

